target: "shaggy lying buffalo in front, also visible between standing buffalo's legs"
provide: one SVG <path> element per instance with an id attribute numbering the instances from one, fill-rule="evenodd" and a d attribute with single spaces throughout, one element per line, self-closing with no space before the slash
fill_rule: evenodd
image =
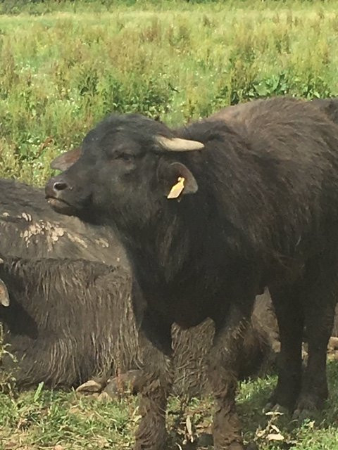
<path id="1" fill-rule="evenodd" d="M 84 259 L 3 260 L 0 278 L 11 304 L 0 306 L 0 321 L 4 343 L 18 362 L 5 356 L 2 364 L 20 387 L 41 381 L 70 387 L 93 375 L 134 375 L 142 352 L 130 302 L 130 271 Z M 257 299 L 252 323 L 244 352 L 238 354 L 242 378 L 257 373 L 273 356 L 275 316 L 268 295 Z M 200 395 L 206 373 L 194 345 L 208 351 L 213 323 L 189 331 L 175 327 L 173 335 L 175 392 Z"/>

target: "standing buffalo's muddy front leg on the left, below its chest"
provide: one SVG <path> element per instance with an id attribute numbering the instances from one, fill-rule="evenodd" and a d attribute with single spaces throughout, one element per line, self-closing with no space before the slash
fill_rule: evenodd
<path id="1" fill-rule="evenodd" d="M 148 312 L 139 333 L 144 368 L 134 389 L 139 392 L 141 420 L 135 436 L 134 450 L 165 450 L 165 410 L 173 382 L 171 362 L 171 323 Z"/>

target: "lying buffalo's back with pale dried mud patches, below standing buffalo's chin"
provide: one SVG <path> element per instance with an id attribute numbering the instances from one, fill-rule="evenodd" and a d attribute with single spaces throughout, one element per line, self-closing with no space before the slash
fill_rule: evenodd
<path id="1" fill-rule="evenodd" d="M 56 214 L 41 189 L 11 179 L 0 179 L 0 254 L 127 264 L 110 229 Z"/>

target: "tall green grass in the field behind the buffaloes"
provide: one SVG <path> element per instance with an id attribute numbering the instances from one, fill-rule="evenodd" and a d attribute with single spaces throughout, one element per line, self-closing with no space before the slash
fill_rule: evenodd
<path id="1" fill-rule="evenodd" d="M 175 124 L 249 98 L 338 95 L 336 0 L 141 4 L 0 15 L 0 176 L 42 184 L 112 111 Z"/>

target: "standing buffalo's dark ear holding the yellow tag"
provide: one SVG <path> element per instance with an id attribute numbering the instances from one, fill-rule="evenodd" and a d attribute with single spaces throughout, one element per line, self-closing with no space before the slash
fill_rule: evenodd
<path id="1" fill-rule="evenodd" d="M 199 185 L 190 170 L 180 162 L 163 167 L 164 194 L 166 198 L 179 198 L 180 195 L 194 194 Z"/>

